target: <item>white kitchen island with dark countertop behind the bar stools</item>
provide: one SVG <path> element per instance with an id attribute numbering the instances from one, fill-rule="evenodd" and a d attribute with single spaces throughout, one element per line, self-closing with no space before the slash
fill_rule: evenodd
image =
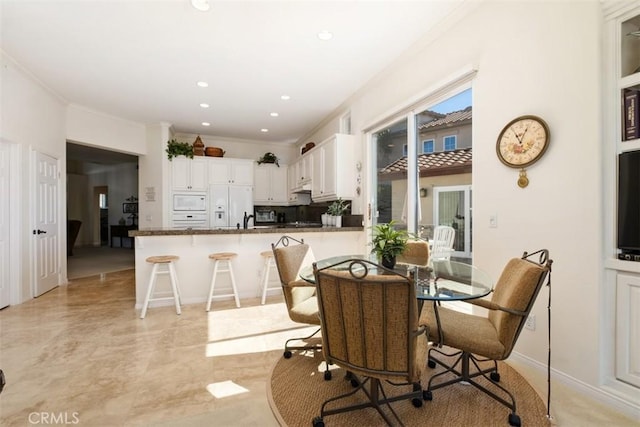
<path id="1" fill-rule="evenodd" d="M 146 262 L 150 256 L 177 255 L 176 274 L 180 284 L 183 304 L 202 304 L 204 313 L 213 262 L 209 254 L 214 252 L 235 252 L 232 261 L 236 286 L 240 297 L 259 298 L 262 295 L 260 278 L 264 259 L 263 251 L 270 251 L 271 244 L 283 236 L 291 236 L 308 243 L 316 259 L 328 258 L 340 254 L 367 252 L 367 233 L 364 227 L 259 227 L 244 229 L 141 229 L 129 234 L 135 239 L 136 266 L 136 309 L 142 307 L 152 265 Z M 272 279 L 276 279 L 277 272 Z M 219 275 L 216 290 L 227 287 L 227 274 Z M 156 290 L 169 290 L 167 277 L 160 277 Z M 269 295 L 275 295 L 272 291 Z M 231 297 L 229 297 L 231 299 Z M 172 301 L 158 301 L 150 307 L 171 305 Z M 216 300 L 212 308 L 215 309 Z M 147 317 L 153 315 L 153 310 Z"/>

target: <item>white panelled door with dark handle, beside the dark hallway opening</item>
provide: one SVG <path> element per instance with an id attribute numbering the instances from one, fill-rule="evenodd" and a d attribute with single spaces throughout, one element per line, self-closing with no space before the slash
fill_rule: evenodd
<path id="1" fill-rule="evenodd" d="M 35 239 L 34 296 L 42 295 L 58 286 L 60 273 L 60 242 L 58 238 L 58 161 L 42 153 L 35 153 Z"/>

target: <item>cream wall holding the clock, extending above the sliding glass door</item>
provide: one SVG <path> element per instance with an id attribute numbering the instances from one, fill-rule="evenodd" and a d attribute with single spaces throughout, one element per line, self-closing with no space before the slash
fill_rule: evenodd
<path id="1" fill-rule="evenodd" d="M 599 2 L 486 2 L 468 5 L 443 34 L 410 50 L 392 69 L 351 99 L 356 133 L 416 94 L 475 68 L 473 87 L 474 262 L 498 277 L 523 251 L 550 250 L 553 269 L 553 368 L 601 385 L 599 297 L 602 195 Z M 434 102 L 439 94 L 433 95 Z M 503 166 L 495 143 L 519 115 L 547 121 L 551 145 L 528 169 L 530 184 Z M 335 132 L 325 123 L 309 138 Z M 363 141 L 364 143 L 364 141 Z M 611 142 L 606 142 L 611 143 Z M 497 215 L 498 227 L 489 228 Z M 548 289 L 534 307 L 535 331 L 516 351 L 546 363 Z M 606 331 L 610 333 L 610 331 Z"/>

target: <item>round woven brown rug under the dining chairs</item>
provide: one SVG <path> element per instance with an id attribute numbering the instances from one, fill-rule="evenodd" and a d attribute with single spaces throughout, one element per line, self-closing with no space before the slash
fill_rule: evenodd
<path id="1" fill-rule="evenodd" d="M 425 366 L 423 388 L 426 388 L 431 375 L 441 369 Z M 332 379 L 325 381 L 321 352 L 294 353 L 290 359 L 280 357 L 271 372 L 267 392 L 271 409 L 281 425 L 309 427 L 313 419 L 320 415 L 320 407 L 325 400 L 352 390 L 350 382 L 345 379 L 344 370 L 334 365 L 331 371 Z M 520 416 L 522 426 L 549 426 L 546 406 L 529 383 L 506 363 L 498 363 L 498 372 L 500 384 L 516 399 L 516 413 Z M 476 380 L 484 385 L 483 378 Z M 488 380 L 486 382 L 490 383 Z M 383 387 L 387 396 L 410 390 L 410 386 L 388 383 L 384 383 Z M 367 400 L 361 391 L 350 399 L 343 399 L 331 408 Z M 434 390 L 433 400 L 424 401 L 420 408 L 415 408 L 409 400 L 393 402 L 391 406 L 405 426 L 509 426 L 510 410 L 469 384 L 458 383 Z M 389 413 L 388 408 L 384 410 Z M 329 415 L 323 421 L 328 427 L 385 425 L 373 408 Z"/>

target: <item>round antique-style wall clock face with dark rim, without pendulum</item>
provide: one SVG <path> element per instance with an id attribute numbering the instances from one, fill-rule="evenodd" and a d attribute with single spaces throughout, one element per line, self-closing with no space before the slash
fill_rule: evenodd
<path id="1" fill-rule="evenodd" d="M 544 120 L 536 116 L 521 116 L 502 129 L 496 152 L 505 165 L 524 168 L 540 159 L 548 146 L 549 128 Z"/>

